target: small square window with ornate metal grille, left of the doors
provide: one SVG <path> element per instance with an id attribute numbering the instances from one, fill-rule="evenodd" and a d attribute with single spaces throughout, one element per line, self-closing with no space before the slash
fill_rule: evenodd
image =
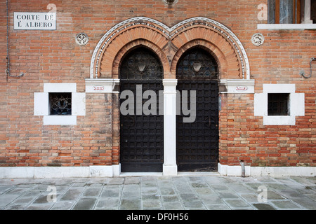
<path id="1" fill-rule="evenodd" d="M 72 115 L 72 93 L 71 92 L 50 92 L 49 106 L 51 116 Z"/>

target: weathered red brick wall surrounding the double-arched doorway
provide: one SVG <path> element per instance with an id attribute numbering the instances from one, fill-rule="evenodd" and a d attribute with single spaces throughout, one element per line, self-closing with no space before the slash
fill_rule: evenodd
<path id="1" fill-rule="evenodd" d="M 13 30 L 13 12 L 48 12 L 57 6 L 56 31 Z M 264 126 L 254 116 L 254 94 L 222 94 L 220 111 L 220 162 L 253 166 L 316 165 L 316 73 L 309 73 L 310 57 L 316 57 L 316 32 L 258 30 L 258 4 L 266 1 L 188 1 L 175 6 L 163 1 L 10 1 L 11 74 L 6 81 L 6 1 L 0 1 L 0 166 L 88 166 L 119 163 L 119 114 L 116 95 L 86 94 L 86 116 L 74 126 L 44 126 L 34 116 L 34 92 L 43 83 L 77 83 L 85 92 L 91 55 L 100 38 L 117 23 L 136 16 L 176 25 L 187 18 L 202 16 L 231 29 L 249 57 L 255 92 L 263 83 L 294 83 L 305 93 L 305 116 L 296 125 Z M 88 34 L 89 42 L 79 46 L 74 37 Z M 265 43 L 251 43 L 261 32 Z M 313 68 L 316 69 L 314 62 Z M 112 98 L 114 97 L 114 98 Z M 113 106 L 113 108 L 112 108 Z"/>

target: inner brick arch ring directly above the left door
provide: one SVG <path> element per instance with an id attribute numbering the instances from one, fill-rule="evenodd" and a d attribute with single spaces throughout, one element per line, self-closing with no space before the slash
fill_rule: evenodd
<path id="1" fill-rule="evenodd" d="M 149 48 L 150 50 L 152 50 L 152 52 L 154 52 L 159 57 L 160 62 L 162 63 L 162 66 L 164 69 L 164 76 L 169 74 L 169 62 L 164 51 L 161 48 L 159 48 L 159 46 L 155 45 L 154 43 L 140 38 L 124 45 L 124 47 L 121 48 L 117 52 L 117 55 L 114 57 L 114 60 L 112 63 L 112 77 L 108 77 L 108 78 L 119 78 L 119 66 L 121 65 L 121 61 L 123 57 L 127 53 L 129 53 L 131 50 L 134 50 L 135 48 L 138 48 L 140 46 L 143 46 L 145 48 Z"/>

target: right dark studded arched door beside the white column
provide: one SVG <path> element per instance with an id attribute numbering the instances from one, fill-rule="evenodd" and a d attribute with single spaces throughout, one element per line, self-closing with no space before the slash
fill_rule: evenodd
<path id="1" fill-rule="evenodd" d="M 179 59 L 176 119 L 176 155 L 178 171 L 216 171 L 218 166 L 218 65 L 202 48 L 190 48 Z M 187 99 L 184 92 L 187 91 Z M 195 97 L 195 104 L 192 104 Z M 195 119 L 185 121 L 185 102 Z M 184 104 L 183 104 L 184 103 Z M 185 106 L 186 107 L 186 106 Z M 192 115 L 190 115 L 192 116 Z"/>

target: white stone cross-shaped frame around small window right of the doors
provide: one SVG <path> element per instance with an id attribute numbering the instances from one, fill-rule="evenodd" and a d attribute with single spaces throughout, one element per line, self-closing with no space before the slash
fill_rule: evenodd
<path id="1" fill-rule="evenodd" d="M 289 93 L 289 116 L 268 116 L 269 93 Z M 263 84 L 263 93 L 254 94 L 254 116 L 263 116 L 263 125 L 295 125 L 296 116 L 305 116 L 305 94 L 295 84 Z"/>

